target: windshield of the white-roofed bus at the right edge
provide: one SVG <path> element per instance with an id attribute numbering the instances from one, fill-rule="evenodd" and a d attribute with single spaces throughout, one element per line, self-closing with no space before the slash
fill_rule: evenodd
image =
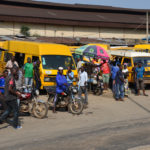
<path id="1" fill-rule="evenodd" d="M 142 63 L 143 67 L 150 67 L 150 57 L 135 57 L 134 63 Z"/>

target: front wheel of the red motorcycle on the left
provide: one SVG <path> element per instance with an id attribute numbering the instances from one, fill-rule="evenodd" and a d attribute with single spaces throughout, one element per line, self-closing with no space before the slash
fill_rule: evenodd
<path id="1" fill-rule="evenodd" d="M 45 103 L 38 102 L 33 105 L 32 111 L 36 118 L 43 119 L 47 116 L 48 107 Z"/>

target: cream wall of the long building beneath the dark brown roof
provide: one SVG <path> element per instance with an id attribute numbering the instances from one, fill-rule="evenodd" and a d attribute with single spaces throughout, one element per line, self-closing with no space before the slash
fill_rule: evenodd
<path id="1" fill-rule="evenodd" d="M 88 37 L 88 38 L 130 38 L 145 37 L 145 30 L 117 29 L 117 28 L 90 28 L 42 24 L 22 24 L 0 22 L 0 35 L 16 35 L 20 33 L 22 25 L 30 28 L 31 35 L 47 37 Z"/>

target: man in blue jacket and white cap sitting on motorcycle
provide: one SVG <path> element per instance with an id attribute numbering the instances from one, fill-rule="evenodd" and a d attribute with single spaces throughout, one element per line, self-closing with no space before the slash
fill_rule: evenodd
<path id="1" fill-rule="evenodd" d="M 63 67 L 58 68 L 58 73 L 56 76 L 56 95 L 54 98 L 54 107 L 53 107 L 53 113 L 56 113 L 56 104 L 58 101 L 58 95 L 65 92 L 67 89 L 67 80 L 66 77 L 63 75 Z"/>

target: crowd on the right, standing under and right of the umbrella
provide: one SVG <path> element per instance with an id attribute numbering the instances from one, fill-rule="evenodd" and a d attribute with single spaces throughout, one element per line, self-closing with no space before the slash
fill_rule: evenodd
<path id="1" fill-rule="evenodd" d="M 117 101 L 124 101 L 124 97 L 125 96 L 128 97 L 130 90 L 128 83 L 129 70 L 127 63 L 122 65 L 119 61 L 117 61 L 117 59 L 113 61 L 110 60 L 99 61 L 97 58 L 93 58 L 93 60 L 88 62 L 88 64 L 90 66 L 90 71 L 86 69 L 88 72 L 88 77 L 92 78 L 91 74 L 93 74 L 96 71 L 97 75 L 102 77 L 104 92 L 107 92 L 109 89 L 111 89 L 113 96 Z M 84 63 L 83 61 L 81 61 L 81 59 L 78 59 L 77 62 L 78 72 L 81 66 L 84 66 Z M 134 89 L 136 95 L 140 95 L 140 89 L 142 89 L 143 95 L 148 96 L 145 93 L 144 78 L 143 78 L 144 73 L 145 69 L 142 66 L 142 63 L 141 62 L 139 62 L 138 64 L 135 63 L 134 67 L 132 68 L 132 73 L 130 75 L 133 76 L 134 78 Z M 88 81 L 90 84 L 91 79 L 89 79 Z"/>

